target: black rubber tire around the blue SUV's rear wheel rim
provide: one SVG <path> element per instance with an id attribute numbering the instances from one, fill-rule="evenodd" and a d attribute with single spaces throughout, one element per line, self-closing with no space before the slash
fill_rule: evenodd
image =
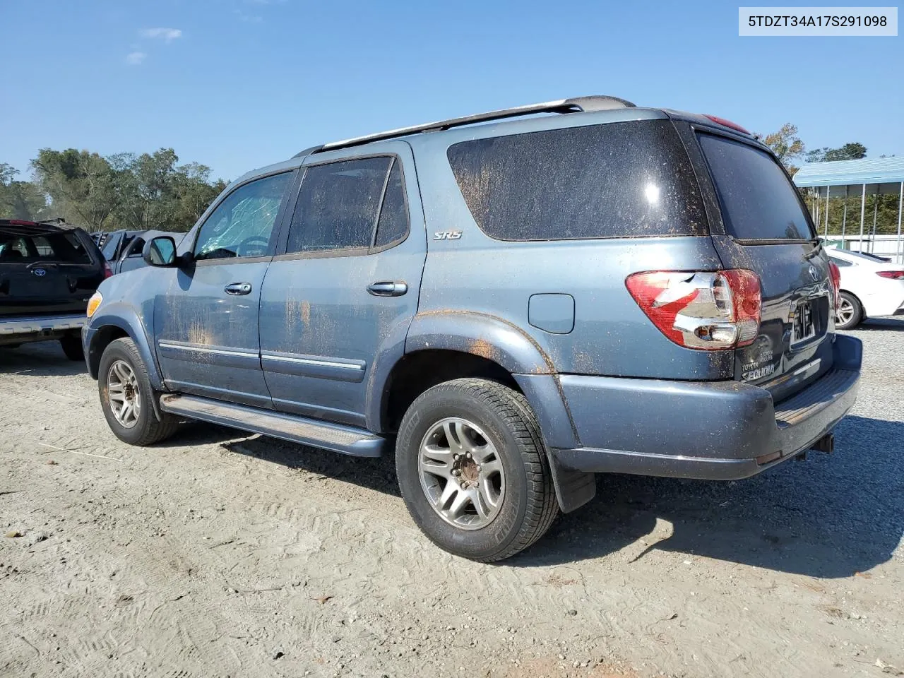
<path id="1" fill-rule="evenodd" d="M 499 513 L 480 529 L 447 523 L 420 482 L 420 443 L 430 428 L 449 417 L 465 418 L 482 428 L 504 468 Z M 493 562 L 523 551 L 549 530 L 559 513 L 537 419 L 521 393 L 495 381 L 457 379 L 424 391 L 401 421 L 396 470 L 414 522 L 441 549 L 470 560 Z"/>

